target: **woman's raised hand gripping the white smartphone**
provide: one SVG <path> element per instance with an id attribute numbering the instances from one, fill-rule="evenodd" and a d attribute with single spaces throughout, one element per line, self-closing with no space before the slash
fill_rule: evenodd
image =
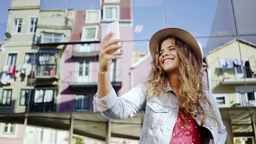
<path id="1" fill-rule="evenodd" d="M 118 48 L 122 48 L 122 45 L 118 45 L 116 43 L 120 42 L 120 39 L 115 39 L 115 40 L 109 40 L 109 38 L 112 36 L 113 32 L 108 33 L 102 41 L 102 46 L 99 51 L 99 56 L 100 56 L 100 71 L 108 71 L 111 61 L 122 58 L 120 55 L 113 55 L 111 52 L 113 50 L 117 50 Z"/>

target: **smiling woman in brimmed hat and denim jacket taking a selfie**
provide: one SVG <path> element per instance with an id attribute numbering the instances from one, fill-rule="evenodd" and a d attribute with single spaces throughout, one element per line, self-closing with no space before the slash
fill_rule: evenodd
<path id="1" fill-rule="evenodd" d="M 110 82 L 112 45 L 105 36 L 100 49 L 94 112 L 124 119 L 144 112 L 140 144 L 224 144 L 224 126 L 216 99 L 202 84 L 202 53 L 194 36 L 181 28 L 158 30 L 150 39 L 152 70 L 148 79 L 121 97 Z"/>

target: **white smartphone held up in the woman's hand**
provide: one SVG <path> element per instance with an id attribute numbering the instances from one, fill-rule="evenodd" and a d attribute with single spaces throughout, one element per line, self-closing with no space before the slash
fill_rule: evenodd
<path id="1" fill-rule="evenodd" d="M 113 32 L 112 36 L 110 37 L 109 40 L 114 40 L 114 39 L 119 39 L 119 22 L 114 21 L 106 26 L 106 34 Z M 119 44 L 118 42 L 117 44 Z M 117 50 L 113 50 L 111 54 L 119 54 L 120 53 L 120 48 Z"/>

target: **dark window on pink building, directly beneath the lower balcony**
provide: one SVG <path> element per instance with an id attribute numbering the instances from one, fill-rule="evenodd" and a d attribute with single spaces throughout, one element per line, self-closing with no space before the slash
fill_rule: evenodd
<path id="1" fill-rule="evenodd" d="M 76 96 L 76 111 L 89 110 L 89 96 L 77 95 Z"/>

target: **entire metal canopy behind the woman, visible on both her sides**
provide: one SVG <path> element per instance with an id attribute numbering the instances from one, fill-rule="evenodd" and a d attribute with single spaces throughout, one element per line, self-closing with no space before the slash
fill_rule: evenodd
<path id="1" fill-rule="evenodd" d="M 220 108 L 220 113 L 224 123 L 231 122 L 234 137 L 255 137 L 256 107 Z M 92 111 L 12 113 L 0 114 L 0 122 L 24 124 L 26 117 L 27 125 L 59 130 L 70 130 L 73 121 L 72 134 L 106 141 L 108 132 L 112 137 L 139 140 L 144 114 L 141 112 L 124 120 L 109 120 Z"/>

